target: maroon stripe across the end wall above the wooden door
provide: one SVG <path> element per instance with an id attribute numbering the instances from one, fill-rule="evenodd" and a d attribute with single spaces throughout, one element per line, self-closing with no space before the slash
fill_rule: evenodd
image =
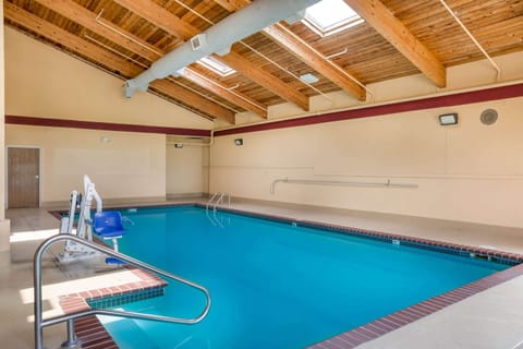
<path id="1" fill-rule="evenodd" d="M 150 125 L 142 125 L 142 124 L 78 121 L 78 120 L 64 120 L 64 119 L 20 117 L 20 116 L 5 116 L 5 123 L 27 124 L 27 125 L 34 125 L 34 127 L 160 133 L 160 134 L 191 135 L 191 136 L 204 136 L 204 137 L 210 136 L 209 130 L 150 127 Z"/>

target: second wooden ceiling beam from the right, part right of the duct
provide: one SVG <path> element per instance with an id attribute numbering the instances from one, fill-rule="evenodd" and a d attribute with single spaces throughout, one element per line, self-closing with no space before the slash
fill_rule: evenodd
<path id="1" fill-rule="evenodd" d="M 365 89 L 341 67 L 332 63 L 319 51 L 281 24 L 272 24 L 264 29 L 273 41 L 302 60 L 305 64 L 333 82 L 358 100 L 365 100 Z"/>

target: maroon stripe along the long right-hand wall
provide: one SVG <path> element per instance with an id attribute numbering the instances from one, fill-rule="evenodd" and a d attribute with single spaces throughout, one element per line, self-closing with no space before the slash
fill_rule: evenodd
<path id="1" fill-rule="evenodd" d="M 246 125 L 236 129 L 229 129 L 217 131 L 216 136 L 228 135 L 228 134 L 238 134 L 246 132 L 256 132 L 256 131 L 266 131 L 275 129 L 284 129 L 284 128 L 294 128 L 303 127 L 315 123 L 332 122 L 332 121 L 342 121 L 349 119 L 358 119 L 358 118 L 369 118 L 369 117 L 379 117 L 386 115 L 392 115 L 397 112 L 423 110 L 430 108 L 440 108 L 440 107 L 451 107 L 467 105 L 473 103 L 497 100 L 504 98 L 513 98 L 523 96 L 523 84 L 492 87 L 481 91 L 459 93 L 448 96 L 438 96 L 429 97 L 416 100 L 400 101 L 390 105 L 367 107 L 354 110 L 345 110 L 338 112 L 330 112 L 320 116 L 312 116 L 297 118 L 292 120 L 282 120 L 275 121 L 264 124 Z"/>

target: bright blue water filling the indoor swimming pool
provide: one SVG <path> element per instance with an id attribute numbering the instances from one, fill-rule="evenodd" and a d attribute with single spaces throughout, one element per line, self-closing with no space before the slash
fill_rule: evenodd
<path id="1" fill-rule="evenodd" d="M 121 348 L 303 348 L 508 265 L 313 228 L 182 206 L 122 212 L 123 253 L 205 286 L 197 325 L 102 317 Z M 193 317 L 200 292 L 120 305 Z"/>

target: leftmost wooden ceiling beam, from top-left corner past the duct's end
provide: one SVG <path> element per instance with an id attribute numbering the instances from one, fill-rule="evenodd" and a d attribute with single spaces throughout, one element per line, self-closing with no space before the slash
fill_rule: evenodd
<path id="1" fill-rule="evenodd" d="M 38 33 L 49 40 L 59 43 L 84 57 L 87 57 L 97 62 L 104 62 L 104 65 L 111 71 L 119 71 L 125 76 L 135 76 L 139 74 L 143 69 L 126 61 L 119 56 L 111 53 L 94 44 L 81 39 L 74 34 L 71 34 L 10 2 L 3 3 L 4 17 L 23 26 L 29 31 Z M 195 93 L 185 88 L 179 87 L 168 81 L 151 84 L 151 87 L 158 92 L 166 94 L 174 100 L 186 104 L 191 108 L 200 110 L 202 112 L 212 117 L 221 118 L 232 122 L 234 113 L 227 108 L 223 108 Z"/>

